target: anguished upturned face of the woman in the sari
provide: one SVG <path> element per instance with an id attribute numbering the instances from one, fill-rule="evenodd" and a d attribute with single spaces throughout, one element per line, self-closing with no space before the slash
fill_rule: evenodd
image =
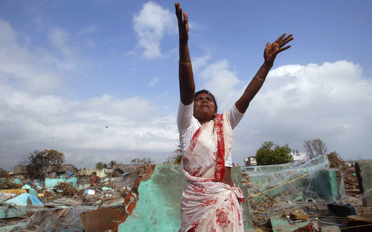
<path id="1" fill-rule="evenodd" d="M 210 121 L 216 115 L 216 105 L 209 94 L 199 94 L 194 99 L 194 117 L 199 121 Z"/>

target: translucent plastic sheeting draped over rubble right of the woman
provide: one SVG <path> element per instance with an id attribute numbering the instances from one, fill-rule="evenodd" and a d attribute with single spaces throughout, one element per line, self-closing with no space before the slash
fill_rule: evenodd
<path id="1" fill-rule="evenodd" d="M 267 220 L 270 213 L 338 201 L 345 197 L 339 169 L 329 168 L 326 156 L 305 163 L 242 168 L 253 221 Z"/>

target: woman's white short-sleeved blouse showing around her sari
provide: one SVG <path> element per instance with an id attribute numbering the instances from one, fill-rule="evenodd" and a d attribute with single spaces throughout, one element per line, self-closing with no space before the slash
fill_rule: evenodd
<path id="1" fill-rule="evenodd" d="M 201 126 L 200 122 L 193 116 L 193 113 L 194 102 L 192 102 L 188 106 L 185 106 L 182 102 L 180 102 L 177 114 L 177 126 L 178 132 L 180 133 L 182 155 L 185 155 L 186 149 L 191 142 L 192 136 Z M 235 126 L 240 122 L 243 115 L 243 113 L 240 113 L 238 109 L 236 109 L 235 104 L 233 104 L 228 112 L 228 117 L 232 129 L 234 129 Z M 232 167 L 231 152 L 225 160 L 225 167 Z"/>

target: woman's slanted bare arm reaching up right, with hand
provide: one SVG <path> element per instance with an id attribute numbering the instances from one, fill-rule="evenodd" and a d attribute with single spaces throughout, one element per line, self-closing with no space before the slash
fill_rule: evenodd
<path id="1" fill-rule="evenodd" d="M 282 34 L 278 39 L 275 40 L 272 44 L 267 42 L 266 48 L 264 51 L 264 64 L 257 71 L 255 77 L 251 80 L 249 85 L 245 88 L 243 95 L 236 101 L 235 106 L 240 113 L 245 113 L 246 109 L 250 105 L 250 102 L 257 94 L 263 85 L 267 74 L 269 73 L 271 67 L 274 64 L 274 60 L 278 53 L 291 48 L 291 45 L 288 45 L 283 48 L 283 46 L 293 39 L 292 34 L 285 36 L 285 33 Z"/>

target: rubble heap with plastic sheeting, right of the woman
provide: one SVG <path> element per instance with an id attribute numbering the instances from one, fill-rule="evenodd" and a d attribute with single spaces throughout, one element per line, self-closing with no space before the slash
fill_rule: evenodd
<path id="1" fill-rule="evenodd" d="M 305 163 L 243 168 L 251 227 L 273 231 L 353 231 L 353 224 L 372 217 L 365 213 L 372 206 L 366 201 L 372 191 L 365 178 L 370 167 L 365 164 L 361 171 L 363 184 L 368 186 L 368 192 L 363 194 L 358 189 L 354 165 L 340 159 L 328 161 L 326 156 L 317 156 Z M 355 217 L 357 214 L 359 217 Z M 372 228 L 372 224 L 364 225 L 369 226 L 365 231 Z"/>

